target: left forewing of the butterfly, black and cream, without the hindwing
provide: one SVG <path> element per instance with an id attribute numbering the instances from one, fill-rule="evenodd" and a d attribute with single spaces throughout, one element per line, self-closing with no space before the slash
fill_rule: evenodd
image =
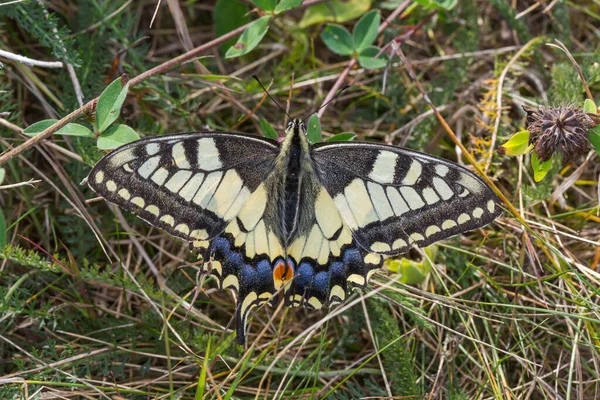
<path id="1" fill-rule="evenodd" d="M 100 160 L 88 184 L 173 236 L 203 241 L 237 215 L 278 151 L 269 140 L 213 132 L 145 139 Z"/>

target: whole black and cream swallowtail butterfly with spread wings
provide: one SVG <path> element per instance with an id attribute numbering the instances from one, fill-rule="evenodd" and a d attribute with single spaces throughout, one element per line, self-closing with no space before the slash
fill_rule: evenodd
<path id="1" fill-rule="evenodd" d="M 281 143 L 219 132 L 138 140 L 102 158 L 87 182 L 189 242 L 203 272 L 237 291 L 240 344 L 250 310 L 276 292 L 293 307 L 341 303 L 386 256 L 501 213 L 494 192 L 455 163 L 378 143 L 313 145 L 300 119 Z"/>

